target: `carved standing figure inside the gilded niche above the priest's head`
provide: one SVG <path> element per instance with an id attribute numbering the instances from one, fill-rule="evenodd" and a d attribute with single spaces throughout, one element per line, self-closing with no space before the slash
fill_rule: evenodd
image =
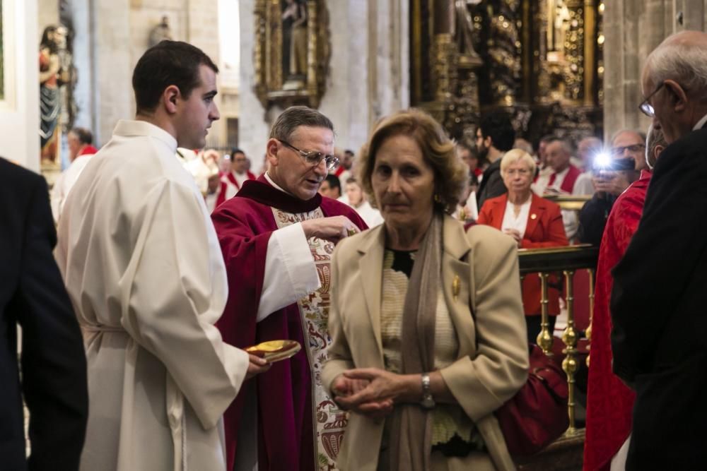
<path id="1" fill-rule="evenodd" d="M 284 88 L 304 86 L 307 75 L 307 4 L 285 0 L 282 10 L 282 76 Z"/>

